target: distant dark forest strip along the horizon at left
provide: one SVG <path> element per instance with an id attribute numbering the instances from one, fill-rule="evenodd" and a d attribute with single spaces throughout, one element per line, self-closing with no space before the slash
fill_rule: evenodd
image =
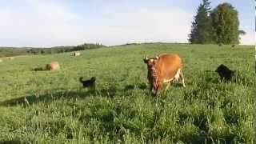
<path id="1" fill-rule="evenodd" d="M 70 51 L 78 50 L 90 50 L 100 47 L 106 47 L 100 43 L 84 43 L 78 46 L 55 46 L 50 48 L 34 48 L 34 47 L 1 47 L 0 46 L 0 58 L 12 57 L 17 55 L 28 54 L 58 54 Z"/>

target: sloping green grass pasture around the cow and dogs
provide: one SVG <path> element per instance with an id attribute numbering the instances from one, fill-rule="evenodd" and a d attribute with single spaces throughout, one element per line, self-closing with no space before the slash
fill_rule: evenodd
<path id="1" fill-rule="evenodd" d="M 181 56 L 186 88 L 150 95 L 142 58 Z M 253 46 L 141 44 L 2 58 L 0 143 L 254 143 Z M 58 61 L 61 70 L 34 71 Z M 238 82 L 220 82 L 220 64 Z M 97 78 L 96 90 L 78 78 Z"/>

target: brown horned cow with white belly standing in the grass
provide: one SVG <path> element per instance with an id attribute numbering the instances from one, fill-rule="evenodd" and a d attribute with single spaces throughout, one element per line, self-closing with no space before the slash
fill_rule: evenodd
<path id="1" fill-rule="evenodd" d="M 163 83 L 168 82 L 167 90 L 170 82 L 177 82 L 178 78 L 182 78 L 182 85 L 186 87 L 182 74 L 182 59 L 178 54 L 160 54 L 155 58 L 146 57 L 143 60 L 147 65 L 150 90 L 154 90 L 154 94 L 158 94 L 158 90 L 162 90 Z"/>

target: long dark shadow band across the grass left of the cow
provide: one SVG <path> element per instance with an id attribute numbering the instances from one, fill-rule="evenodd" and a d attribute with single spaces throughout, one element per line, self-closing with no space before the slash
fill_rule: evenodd
<path id="1" fill-rule="evenodd" d="M 173 83 L 171 86 L 182 86 L 182 83 Z M 22 96 L 20 98 L 8 99 L 1 102 L 1 106 L 32 106 L 39 102 L 54 102 L 58 99 L 76 99 L 76 98 L 87 98 L 87 97 L 107 97 L 114 98 L 118 95 L 126 95 L 127 91 L 130 90 L 149 90 L 149 86 L 146 82 L 129 84 L 123 88 L 118 89 L 116 86 L 108 86 L 100 90 L 90 90 L 90 89 L 78 89 L 78 90 L 53 90 L 45 94 L 29 94 Z"/>

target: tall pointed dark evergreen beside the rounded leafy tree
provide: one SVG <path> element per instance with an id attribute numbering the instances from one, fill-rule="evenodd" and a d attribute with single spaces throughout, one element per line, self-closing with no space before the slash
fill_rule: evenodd
<path id="1" fill-rule="evenodd" d="M 192 22 L 189 41 L 191 43 L 210 43 L 212 42 L 213 30 L 210 19 L 210 2 L 202 0 L 198 6 L 198 12 Z"/>

